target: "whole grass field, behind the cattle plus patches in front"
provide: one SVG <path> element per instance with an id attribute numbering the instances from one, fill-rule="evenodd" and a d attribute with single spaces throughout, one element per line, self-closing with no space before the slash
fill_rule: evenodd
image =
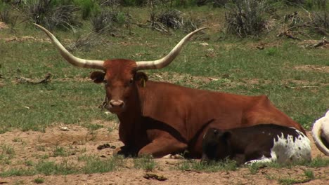
<path id="1" fill-rule="evenodd" d="M 224 25 L 223 9 L 194 7 L 181 11 L 205 19 L 203 26 L 210 26 L 210 29 L 195 36 L 168 67 L 146 71 L 150 80 L 240 95 L 268 95 L 278 109 L 307 130 L 329 109 L 329 45 L 311 49 L 302 47 L 313 39 L 320 40 L 321 36 L 314 35 L 307 41 L 296 41 L 276 37 L 278 30 L 275 29 L 258 39 L 239 39 L 221 32 Z M 129 13 L 138 22 L 146 22 L 148 15 L 145 12 L 141 8 L 129 8 Z M 120 36 L 101 35 L 98 44 L 87 50 L 75 50 L 74 55 L 94 60 L 155 60 L 169 52 L 185 35 L 180 30 L 172 30 L 171 35 L 165 35 L 136 25 L 131 27 L 131 34 L 127 29 L 121 30 Z M 69 46 L 79 35 L 88 32 L 91 32 L 91 26 L 86 22 L 76 33 L 57 29 L 53 34 L 65 46 Z M 264 49 L 258 49 L 257 46 L 264 46 Z M 86 137 L 91 138 L 97 130 L 116 135 L 113 132 L 115 126 L 108 124 L 116 123 L 116 116 L 105 114 L 98 108 L 105 97 L 103 85 L 89 80 L 91 70 L 78 69 L 65 62 L 44 33 L 33 27 L 31 22 L 16 25 L 15 32 L 8 28 L 0 29 L 0 56 L 1 135 L 16 133 L 17 129 L 19 132 L 46 133 L 47 129 L 58 125 L 79 126 L 79 129 L 87 130 Z M 28 78 L 38 81 L 47 73 L 52 74 L 49 83 L 32 84 L 22 80 Z M 34 183 L 43 183 L 47 177 L 35 175 L 108 172 L 115 170 L 115 165 L 122 167 L 124 163 L 129 163 L 117 158 L 100 160 L 92 156 L 92 152 L 87 155 L 83 148 L 75 151 L 67 143 L 51 146 L 37 144 L 36 150 L 41 152 L 39 156 L 32 156 L 31 161 L 20 160 L 17 159 L 20 156 L 18 153 L 21 153 L 17 151 L 20 149 L 17 144 L 24 146 L 24 142 L 20 141 L 19 135 L 11 142 L 12 145 L 0 143 L 0 164 L 4 166 L 0 167 L 0 177 L 34 175 Z M 77 166 L 65 163 L 65 159 L 70 158 L 67 153 L 72 151 L 79 153 L 75 159 L 78 161 L 75 163 Z M 58 156 L 60 160 L 56 159 Z M 328 172 L 328 159 L 321 158 L 319 161 L 319 165 L 309 166 L 324 166 L 325 172 Z M 152 171 L 153 168 L 161 168 L 149 158 L 132 163 L 134 169 Z M 226 165 L 228 167 L 219 167 L 219 170 L 236 170 L 231 163 Z M 188 171 L 191 168 L 197 171 L 204 169 L 185 161 L 176 165 L 175 170 Z M 254 174 L 258 172 L 258 168 L 248 170 Z M 307 179 L 320 178 L 314 177 L 313 171 L 303 172 L 302 175 Z M 268 175 L 266 178 L 276 179 L 280 184 L 300 182 L 292 177 Z"/>

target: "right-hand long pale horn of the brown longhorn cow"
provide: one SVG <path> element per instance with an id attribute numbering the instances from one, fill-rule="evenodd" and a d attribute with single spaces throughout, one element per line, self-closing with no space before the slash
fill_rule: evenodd
<path id="1" fill-rule="evenodd" d="M 138 61 L 136 62 L 137 64 L 137 69 L 161 69 L 163 67 L 166 67 L 170 62 L 172 62 L 177 55 L 181 52 L 181 48 L 188 42 L 188 40 L 196 33 L 200 32 L 202 29 L 206 29 L 209 27 L 202 27 L 200 29 L 196 29 L 195 31 L 189 33 L 186 35 L 177 45 L 170 51 L 168 55 L 165 57 L 162 57 L 159 60 L 153 60 L 153 61 Z"/>

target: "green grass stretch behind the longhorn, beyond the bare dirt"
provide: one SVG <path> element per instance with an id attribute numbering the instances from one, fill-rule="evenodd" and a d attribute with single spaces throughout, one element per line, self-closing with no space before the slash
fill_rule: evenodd
<path id="1" fill-rule="evenodd" d="M 98 60 L 116 57 L 155 60 L 167 53 L 183 36 L 183 33 L 176 32 L 167 37 L 137 27 L 134 28 L 134 32 L 134 38 L 137 40 L 129 41 L 129 46 L 120 45 L 121 42 L 127 41 L 127 38 L 106 38 L 112 41 L 111 46 L 97 46 L 89 52 L 77 51 L 75 55 Z M 25 32 L 20 30 L 20 33 Z M 26 30 L 27 35 L 31 33 L 38 38 L 46 38 L 39 30 Z M 72 33 L 56 31 L 55 34 L 62 39 L 74 38 Z M 230 43 L 230 40 L 214 41 L 214 38 L 209 36 L 209 47 L 200 46 L 199 43 L 202 41 L 191 41 L 168 67 L 146 73 L 168 71 L 182 76 L 219 78 L 219 81 L 201 83 L 199 88 L 240 95 L 268 95 L 278 109 L 306 128 L 310 128 L 316 118 L 328 109 L 328 73 L 293 69 L 301 65 L 328 66 L 326 50 L 306 50 L 297 46 L 295 41 L 284 41 L 275 48 L 257 50 L 250 47 L 250 41 Z M 144 45 L 139 39 L 148 41 L 148 45 Z M 231 44 L 237 47 L 226 47 Z M 209 48 L 215 49 L 216 57 L 205 57 Z M 36 50 L 39 52 L 35 52 Z M 53 123 L 87 124 L 95 119 L 114 119 L 115 116 L 106 116 L 98 109 L 105 96 L 103 85 L 82 81 L 93 70 L 70 66 L 51 43 L 1 41 L 0 51 L 3 53 L 0 74 L 4 76 L 4 79 L 0 80 L 5 83 L 0 88 L 0 132 L 6 132 L 11 128 L 20 128 L 23 131 L 44 130 Z M 19 55 L 16 51 L 19 51 Z M 142 55 L 135 55 L 136 53 Z M 47 72 L 53 74 L 53 81 L 48 84 L 13 82 L 20 76 L 43 78 Z M 252 79 L 260 83 L 248 83 Z M 316 88 L 298 88 L 304 83 L 301 85 L 295 81 L 303 81 L 306 85 Z M 190 84 L 180 82 L 179 85 Z"/>

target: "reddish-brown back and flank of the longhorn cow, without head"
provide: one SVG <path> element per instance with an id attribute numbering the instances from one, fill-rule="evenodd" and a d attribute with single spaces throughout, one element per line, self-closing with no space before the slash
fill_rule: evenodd
<path id="1" fill-rule="evenodd" d="M 138 85 L 142 116 L 168 124 L 190 144 L 195 157 L 202 153 L 202 135 L 209 127 L 240 128 L 259 123 L 276 123 L 303 128 L 271 104 L 266 96 L 244 96 L 198 90 L 170 83 L 148 81 Z M 217 125 L 205 125 L 217 119 Z"/>

